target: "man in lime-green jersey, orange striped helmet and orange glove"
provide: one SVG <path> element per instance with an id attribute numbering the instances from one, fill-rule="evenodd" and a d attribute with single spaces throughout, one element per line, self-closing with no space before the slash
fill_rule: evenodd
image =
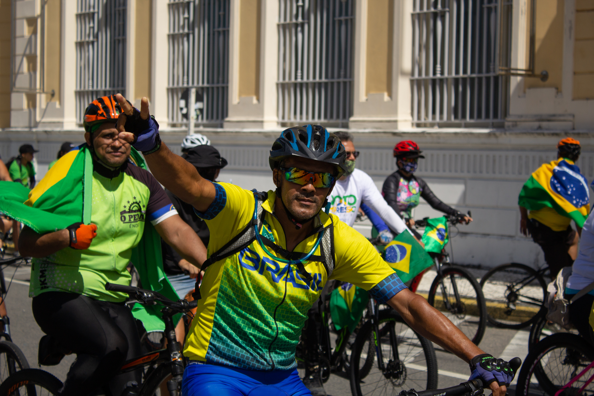
<path id="1" fill-rule="evenodd" d="M 86 145 L 62 156 L 29 194 L 31 202 L 53 186 L 58 188 L 55 194 L 70 194 L 59 189 L 60 180 L 71 177 L 76 164 L 83 166 L 75 160 L 81 153 L 86 159 L 90 150 L 93 173 L 84 192 L 92 183 L 91 224 L 74 223 L 43 235 L 24 227 L 19 240 L 21 253 L 34 257 L 33 315 L 49 336 L 40 343 L 41 359 L 52 348 L 77 354 L 61 395 L 84 396 L 107 388 L 106 394 L 119 396 L 129 382 L 140 384 L 142 369 L 113 377 L 122 362 L 140 356 L 141 350 L 132 312 L 124 303 L 127 294 L 109 292 L 105 284 L 129 285 L 132 249 L 146 227 L 154 227 L 197 267 L 206 259 L 200 238 L 181 220 L 157 180 L 131 161 L 131 147 L 115 129 L 120 112 L 113 96 L 94 100 L 84 116 Z"/>

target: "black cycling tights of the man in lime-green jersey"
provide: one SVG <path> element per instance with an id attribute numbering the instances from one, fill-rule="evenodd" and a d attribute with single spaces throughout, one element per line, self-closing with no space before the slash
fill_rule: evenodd
<path id="1" fill-rule="evenodd" d="M 113 377 L 122 362 L 140 356 L 134 317 L 124 303 L 46 292 L 33 298 L 33 316 L 62 349 L 77 354 L 61 395 L 84 396 L 105 386 L 106 394 L 119 396 L 128 381 L 140 384 L 141 369 Z"/>

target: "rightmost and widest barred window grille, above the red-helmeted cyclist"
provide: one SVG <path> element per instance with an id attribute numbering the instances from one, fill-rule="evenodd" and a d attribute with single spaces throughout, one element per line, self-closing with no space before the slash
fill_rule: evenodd
<path id="1" fill-rule="evenodd" d="M 417 126 L 503 126 L 511 2 L 413 0 L 412 115 Z"/>

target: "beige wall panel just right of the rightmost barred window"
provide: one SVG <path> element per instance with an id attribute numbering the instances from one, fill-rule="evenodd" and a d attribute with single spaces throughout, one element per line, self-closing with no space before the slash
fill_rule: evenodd
<path id="1" fill-rule="evenodd" d="M 527 78 L 526 88 L 554 87 L 561 92 L 563 80 L 563 17 L 564 0 L 536 1 L 536 51 L 534 72 L 546 70 L 549 78 Z M 528 26 L 528 28 L 530 28 Z"/>

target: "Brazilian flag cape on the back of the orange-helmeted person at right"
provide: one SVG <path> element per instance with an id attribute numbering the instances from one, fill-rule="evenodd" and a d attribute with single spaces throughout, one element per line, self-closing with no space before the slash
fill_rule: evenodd
<path id="1" fill-rule="evenodd" d="M 590 213 L 589 204 L 587 180 L 567 158 L 542 164 L 524 183 L 518 198 L 518 205 L 527 210 L 549 207 L 571 218 L 579 227 L 583 227 Z"/>

